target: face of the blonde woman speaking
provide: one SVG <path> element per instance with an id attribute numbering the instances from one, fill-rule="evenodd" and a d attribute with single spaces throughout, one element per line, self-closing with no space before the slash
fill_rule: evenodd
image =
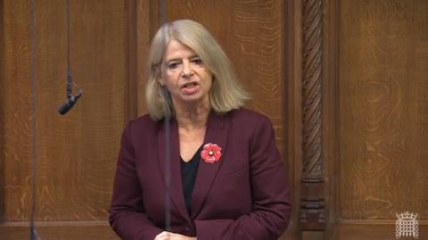
<path id="1" fill-rule="evenodd" d="M 167 46 L 161 65 L 160 82 L 168 88 L 176 106 L 210 103 L 210 70 L 192 49 L 177 40 L 171 40 Z"/>

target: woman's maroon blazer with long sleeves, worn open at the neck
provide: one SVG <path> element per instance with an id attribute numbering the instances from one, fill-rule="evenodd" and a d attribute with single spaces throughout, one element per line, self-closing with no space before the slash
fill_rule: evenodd
<path id="1" fill-rule="evenodd" d="M 270 120 L 240 109 L 210 113 L 204 144 L 220 161 L 201 160 L 186 211 L 177 122 L 170 123 L 170 231 L 198 240 L 277 239 L 290 219 L 290 189 Z M 110 223 L 122 239 L 152 240 L 165 228 L 165 129 L 145 115 L 125 128 Z"/>

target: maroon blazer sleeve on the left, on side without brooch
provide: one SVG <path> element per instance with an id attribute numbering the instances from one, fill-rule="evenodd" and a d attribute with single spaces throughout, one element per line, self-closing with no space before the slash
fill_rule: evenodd
<path id="1" fill-rule="evenodd" d="M 125 128 L 121 138 L 109 221 L 111 228 L 121 239 L 152 240 L 163 230 L 156 228 L 144 213 L 143 191 L 136 175 L 131 123 Z"/>

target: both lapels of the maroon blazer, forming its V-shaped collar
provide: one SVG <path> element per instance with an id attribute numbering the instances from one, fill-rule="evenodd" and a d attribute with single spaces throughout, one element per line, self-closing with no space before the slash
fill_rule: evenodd
<path id="1" fill-rule="evenodd" d="M 214 111 L 210 112 L 203 144 L 205 145 L 207 143 L 212 143 L 219 145 L 221 147 L 222 157 L 220 158 L 220 161 L 216 161 L 214 163 L 206 163 L 205 161 L 200 160 L 199 169 L 192 194 L 192 219 L 200 211 L 202 204 L 210 191 L 210 187 L 212 186 L 218 168 L 221 165 L 221 162 L 223 161 L 224 155 L 226 153 L 226 118 L 227 114 L 218 115 Z M 178 127 L 176 120 L 169 120 L 169 129 L 170 131 L 168 147 L 166 146 L 167 142 L 165 141 L 165 121 L 160 122 L 160 130 L 158 131 L 158 154 L 160 157 L 159 163 L 161 166 L 161 172 L 164 177 L 163 179 L 168 179 L 167 177 L 169 177 L 169 193 L 171 203 L 174 203 L 177 210 L 185 217 L 185 219 L 190 220 L 190 216 L 188 215 L 185 209 L 185 197 L 183 194 L 181 166 L 179 161 L 180 149 L 178 139 Z M 165 151 L 165 149 L 167 148 L 169 148 L 169 168 L 168 162 L 166 161 L 168 153 L 167 151 Z"/>

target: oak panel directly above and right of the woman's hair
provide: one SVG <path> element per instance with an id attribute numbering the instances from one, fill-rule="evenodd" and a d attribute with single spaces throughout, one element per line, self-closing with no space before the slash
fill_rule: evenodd
<path id="1" fill-rule="evenodd" d="M 251 93 L 249 107 L 269 116 L 284 152 L 284 1 L 166 1 L 167 19 L 201 22 L 218 39 Z"/>

